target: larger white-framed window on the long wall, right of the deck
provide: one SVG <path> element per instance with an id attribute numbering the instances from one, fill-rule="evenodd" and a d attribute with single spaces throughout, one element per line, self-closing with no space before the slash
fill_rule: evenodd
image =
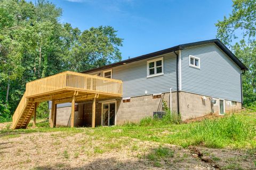
<path id="1" fill-rule="evenodd" d="M 163 65 L 163 58 L 147 61 L 147 77 L 163 75 Z"/>

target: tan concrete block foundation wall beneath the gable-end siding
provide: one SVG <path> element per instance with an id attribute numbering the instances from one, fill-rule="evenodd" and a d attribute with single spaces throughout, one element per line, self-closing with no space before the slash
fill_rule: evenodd
<path id="1" fill-rule="evenodd" d="M 205 96 L 206 100 L 202 100 L 203 95 L 180 92 L 180 112 L 182 120 L 201 117 L 211 112 L 211 96 Z M 215 98 L 214 98 L 215 99 Z M 233 112 L 242 109 L 242 103 L 237 102 L 237 106 L 231 106 L 231 101 L 225 100 L 225 112 Z M 219 99 L 213 104 L 215 114 L 219 114 Z"/>

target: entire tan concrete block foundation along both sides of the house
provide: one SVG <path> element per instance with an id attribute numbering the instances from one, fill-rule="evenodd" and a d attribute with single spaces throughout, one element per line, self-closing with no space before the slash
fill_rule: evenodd
<path id="1" fill-rule="evenodd" d="M 179 108 L 182 120 L 210 114 L 212 111 L 210 98 L 212 97 L 182 91 L 179 92 Z M 215 99 L 217 102 L 213 105 L 213 111 L 214 114 L 219 114 L 219 99 Z M 153 95 L 132 97 L 130 102 L 123 102 L 122 99 L 116 99 L 116 125 L 138 123 L 144 117 L 153 116 L 154 111 L 163 110 L 163 101 L 166 101 L 170 106 L 170 93 L 163 93 L 160 98 L 153 98 Z M 95 126 L 101 125 L 101 102 L 96 102 Z M 225 112 L 236 112 L 242 109 L 242 103 L 240 102 L 236 102 L 235 106 L 229 100 L 225 100 L 224 103 Z M 177 92 L 172 92 L 171 106 L 172 111 L 177 112 Z M 70 114 L 71 107 L 57 108 L 56 124 L 70 126 Z M 91 124 L 92 102 L 78 103 L 78 110 L 75 111 L 75 126 L 90 127 Z"/>

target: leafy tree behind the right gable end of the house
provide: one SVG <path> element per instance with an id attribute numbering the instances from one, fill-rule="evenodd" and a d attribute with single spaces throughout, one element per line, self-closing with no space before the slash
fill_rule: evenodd
<path id="1" fill-rule="evenodd" d="M 256 0 L 233 0 L 232 13 L 216 26 L 217 37 L 249 68 L 243 75 L 244 104 L 256 104 Z"/>

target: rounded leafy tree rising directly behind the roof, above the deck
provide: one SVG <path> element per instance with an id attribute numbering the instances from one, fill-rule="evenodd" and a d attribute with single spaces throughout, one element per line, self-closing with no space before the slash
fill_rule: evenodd
<path id="1" fill-rule="evenodd" d="M 123 39 L 118 38 L 116 32 L 110 26 L 92 27 L 83 31 L 76 39 L 68 58 L 70 69 L 83 71 L 121 61 L 121 52 L 118 47 L 122 46 Z"/>

